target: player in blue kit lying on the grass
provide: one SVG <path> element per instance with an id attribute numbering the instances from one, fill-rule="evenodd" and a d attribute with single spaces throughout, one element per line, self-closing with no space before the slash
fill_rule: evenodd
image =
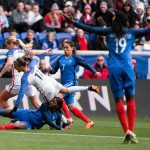
<path id="1" fill-rule="evenodd" d="M 57 130 L 70 129 L 67 120 L 61 126 L 62 114 L 60 109 L 62 107 L 62 99 L 54 97 L 51 101 L 43 103 L 39 109 L 27 110 L 12 109 L 0 110 L 0 116 L 12 118 L 14 121 L 0 126 L 0 130 L 9 129 L 40 129 L 45 124 Z M 58 124 L 54 123 L 57 122 Z"/>

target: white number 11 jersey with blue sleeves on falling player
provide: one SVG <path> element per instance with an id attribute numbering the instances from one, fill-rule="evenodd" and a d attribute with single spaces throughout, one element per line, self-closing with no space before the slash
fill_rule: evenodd
<path id="1" fill-rule="evenodd" d="M 51 76 L 44 75 L 37 67 L 38 60 L 32 59 L 28 65 L 29 71 L 25 72 L 21 79 L 21 87 L 16 101 L 19 106 L 29 85 L 33 85 L 41 93 L 46 101 L 51 101 L 62 89 L 62 85 Z"/>

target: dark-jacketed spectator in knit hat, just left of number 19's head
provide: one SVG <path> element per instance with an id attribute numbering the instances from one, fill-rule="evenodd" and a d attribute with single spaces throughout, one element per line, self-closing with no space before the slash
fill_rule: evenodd
<path id="1" fill-rule="evenodd" d="M 99 20 L 101 17 L 104 19 L 107 26 L 111 26 L 113 16 L 114 16 L 113 13 L 108 10 L 107 3 L 105 1 L 102 1 L 100 3 L 99 11 L 95 13 L 96 26 L 99 26 Z"/>

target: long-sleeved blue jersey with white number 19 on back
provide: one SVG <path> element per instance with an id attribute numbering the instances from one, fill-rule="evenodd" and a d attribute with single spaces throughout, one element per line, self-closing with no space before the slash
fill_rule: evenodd
<path id="1" fill-rule="evenodd" d="M 124 29 L 124 36 L 117 38 L 111 28 L 90 27 L 81 23 L 74 23 L 75 26 L 96 34 L 107 36 L 109 49 L 108 67 L 125 68 L 132 67 L 130 50 L 135 42 L 136 37 L 150 34 L 148 29 Z"/>

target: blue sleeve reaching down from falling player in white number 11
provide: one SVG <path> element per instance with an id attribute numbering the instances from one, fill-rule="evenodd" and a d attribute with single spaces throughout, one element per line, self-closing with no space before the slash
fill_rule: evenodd
<path id="1" fill-rule="evenodd" d="M 16 100 L 15 106 L 18 107 L 20 105 L 20 103 L 22 102 L 23 96 L 28 88 L 28 76 L 29 76 L 29 72 L 25 72 L 21 78 L 21 86 L 20 86 L 20 90 L 19 90 L 19 94 L 18 94 L 18 98 Z"/>

